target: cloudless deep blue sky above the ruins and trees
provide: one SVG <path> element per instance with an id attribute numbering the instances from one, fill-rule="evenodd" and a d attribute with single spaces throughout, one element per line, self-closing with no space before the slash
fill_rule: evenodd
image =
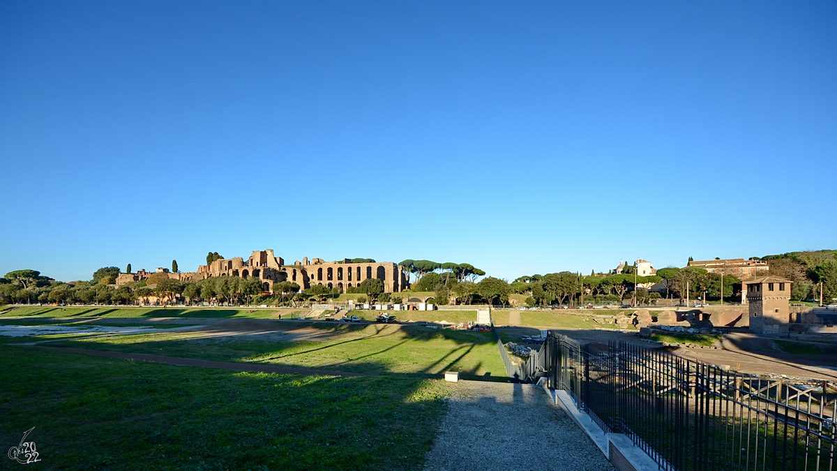
<path id="1" fill-rule="evenodd" d="M 834 2 L 0 3 L 0 275 L 837 249 Z"/>

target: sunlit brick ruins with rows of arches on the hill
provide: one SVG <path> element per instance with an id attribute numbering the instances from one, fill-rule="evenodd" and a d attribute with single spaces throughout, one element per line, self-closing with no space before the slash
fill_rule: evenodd
<path id="1" fill-rule="evenodd" d="M 400 292 L 408 286 L 407 274 L 400 265 L 389 261 L 352 263 L 350 259 L 342 261 L 324 261 L 308 257 L 285 265 L 280 256 L 275 256 L 272 249 L 253 251 L 247 261 L 236 256 L 221 258 L 209 265 L 201 265 L 197 272 L 169 272 L 166 268 L 157 268 L 155 273 L 182 282 L 198 282 L 211 277 L 256 278 L 261 282 L 264 292 L 273 292 L 273 285 L 279 282 L 295 282 L 300 288 L 313 285 L 336 287 L 340 292 L 347 292 L 349 287 L 357 287 L 361 282 L 377 278 L 383 282 L 384 292 Z M 134 273 L 120 273 L 116 277 L 117 285 L 147 280 L 152 272 L 145 269 Z"/>

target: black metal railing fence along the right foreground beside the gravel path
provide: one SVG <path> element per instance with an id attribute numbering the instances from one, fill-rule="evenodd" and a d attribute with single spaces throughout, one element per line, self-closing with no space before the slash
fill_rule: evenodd
<path id="1" fill-rule="evenodd" d="M 624 342 L 594 349 L 553 333 L 539 355 L 551 388 L 660 469 L 834 469 L 834 383 L 743 375 Z"/>

